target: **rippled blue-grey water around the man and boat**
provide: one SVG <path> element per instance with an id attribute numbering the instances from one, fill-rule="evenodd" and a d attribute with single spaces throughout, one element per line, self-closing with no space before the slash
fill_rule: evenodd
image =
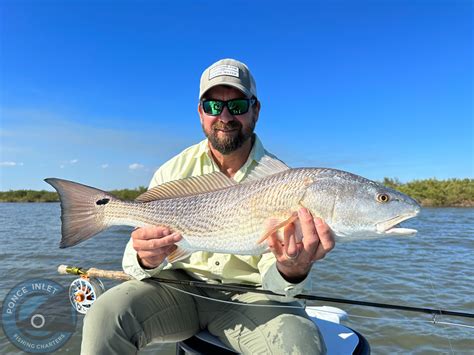
<path id="1" fill-rule="evenodd" d="M 129 228 L 115 228 L 59 249 L 59 204 L 0 203 L 0 299 L 17 283 L 48 278 L 67 286 L 57 265 L 119 270 Z M 416 237 L 339 243 L 313 270 L 313 293 L 321 296 L 474 312 L 474 209 L 425 208 L 405 223 Z M 107 287 L 112 281 L 105 282 Z M 474 329 L 433 325 L 431 316 L 333 304 L 351 316 L 345 324 L 364 334 L 373 354 L 474 354 Z M 373 318 L 359 318 L 373 317 Z M 443 317 L 474 326 L 474 321 Z M 59 353 L 76 354 L 77 331 Z M 0 352 L 21 353 L 0 330 Z M 156 345 L 145 353 L 157 349 Z M 168 345 L 165 350 L 171 352 Z"/>

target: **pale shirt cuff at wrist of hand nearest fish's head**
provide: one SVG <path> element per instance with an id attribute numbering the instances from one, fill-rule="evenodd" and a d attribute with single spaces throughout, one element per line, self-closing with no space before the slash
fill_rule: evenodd
<path id="1" fill-rule="evenodd" d="M 301 281 L 300 283 L 294 284 L 286 281 L 276 266 L 276 259 L 272 253 L 263 254 L 262 258 L 258 263 L 258 270 L 262 275 L 262 287 L 265 290 L 270 290 L 275 293 L 285 295 L 285 297 L 270 296 L 271 299 L 280 302 L 291 302 L 294 301 L 292 298 L 295 295 L 304 293 L 304 290 L 310 289 L 311 287 L 311 274 Z"/>

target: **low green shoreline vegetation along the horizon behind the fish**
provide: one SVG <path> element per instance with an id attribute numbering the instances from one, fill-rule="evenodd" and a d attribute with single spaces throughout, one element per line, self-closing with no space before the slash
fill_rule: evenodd
<path id="1" fill-rule="evenodd" d="M 385 178 L 382 183 L 415 198 L 424 207 L 474 207 L 474 179 L 426 179 L 401 183 L 398 179 Z M 145 191 L 146 188 L 140 186 L 133 190 L 113 190 L 110 193 L 124 200 L 133 200 Z M 51 191 L 0 191 L 0 202 L 57 201 L 57 193 Z"/>

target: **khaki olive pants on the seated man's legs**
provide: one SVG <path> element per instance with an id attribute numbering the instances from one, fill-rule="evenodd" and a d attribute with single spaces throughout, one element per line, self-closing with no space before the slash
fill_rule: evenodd
<path id="1" fill-rule="evenodd" d="M 160 277 L 190 279 L 174 270 Z M 173 287 L 227 301 L 299 306 L 261 294 Z M 135 354 L 150 342 L 184 340 L 204 328 L 244 354 L 325 353 L 318 328 L 301 308 L 226 304 L 147 279 L 124 282 L 97 299 L 84 320 L 81 354 Z"/>

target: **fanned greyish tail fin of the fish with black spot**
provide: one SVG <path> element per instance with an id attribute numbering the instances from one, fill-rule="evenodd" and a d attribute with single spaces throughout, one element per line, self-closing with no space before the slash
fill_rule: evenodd
<path id="1" fill-rule="evenodd" d="M 109 193 L 68 180 L 49 178 L 61 201 L 60 248 L 79 244 L 110 227 L 104 218 L 105 206 L 118 200 Z"/>

